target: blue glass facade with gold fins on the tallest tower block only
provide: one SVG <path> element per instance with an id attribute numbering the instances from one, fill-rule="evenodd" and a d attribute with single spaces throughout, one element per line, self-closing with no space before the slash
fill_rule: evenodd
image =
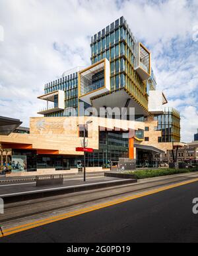
<path id="1" fill-rule="evenodd" d="M 91 60 L 98 62 L 99 56 L 110 60 L 111 91 L 124 89 L 148 110 L 147 84 L 144 84 L 134 70 L 134 45 L 136 41 L 121 17 L 98 34 L 92 36 Z M 102 48 L 100 45 L 102 44 Z M 99 45 L 99 47 L 97 47 Z"/>

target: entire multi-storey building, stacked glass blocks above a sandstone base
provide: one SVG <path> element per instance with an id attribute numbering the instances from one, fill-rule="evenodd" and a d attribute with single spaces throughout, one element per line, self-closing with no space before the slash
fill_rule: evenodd
<path id="1" fill-rule="evenodd" d="M 30 120 L 25 145 L 20 133 L 14 144 L 12 138 L 10 144 L 0 138 L 3 147 L 13 147 L 16 159 L 26 156 L 28 170 L 77 168 L 83 157 L 75 148 L 81 145 L 85 127 L 79 117 L 117 121 L 125 109 L 125 125 L 115 122 L 108 129 L 108 124 L 100 124 L 92 135 L 86 132 L 94 149 L 86 153 L 86 166 L 105 168 L 120 158 L 135 159 L 139 166 L 152 164 L 155 154 L 180 142 L 180 113 L 164 109 L 168 101 L 156 90 L 150 51 L 133 36 L 124 17 L 91 36 L 90 66 L 64 72 L 45 84 L 38 98 L 46 101 L 38 112 L 44 117 Z M 75 117 L 79 123 L 65 130 Z"/>

